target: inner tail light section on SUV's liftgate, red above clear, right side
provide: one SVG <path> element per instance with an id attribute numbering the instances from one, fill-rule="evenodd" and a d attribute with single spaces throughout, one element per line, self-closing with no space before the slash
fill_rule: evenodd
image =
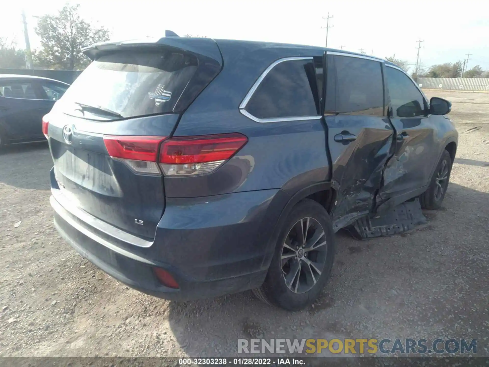
<path id="1" fill-rule="evenodd" d="M 104 135 L 109 155 L 126 163 L 134 172 L 159 175 L 156 164 L 159 144 L 166 137 L 132 137 Z"/>

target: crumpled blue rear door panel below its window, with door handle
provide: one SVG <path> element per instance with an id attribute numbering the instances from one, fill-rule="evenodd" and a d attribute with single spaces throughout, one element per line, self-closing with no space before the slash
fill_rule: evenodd
<path id="1" fill-rule="evenodd" d="M 332 160 L 332 181 L 339 184 L 332 213 L 338 230 L 368 215 L 390 157 L 394 130 L 386 117 L 333 115 L 325 117 Z M 337 136 L 352 140 L 338 141 Z"/>

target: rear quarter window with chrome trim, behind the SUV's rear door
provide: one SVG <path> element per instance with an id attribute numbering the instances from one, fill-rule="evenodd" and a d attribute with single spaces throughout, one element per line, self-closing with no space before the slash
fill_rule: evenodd
<path id="1" fill-rule="evenodd" d="M 245 110 L 258 118 L 318 115 L 312 59 L 283 61 L 262 80 Z"/>

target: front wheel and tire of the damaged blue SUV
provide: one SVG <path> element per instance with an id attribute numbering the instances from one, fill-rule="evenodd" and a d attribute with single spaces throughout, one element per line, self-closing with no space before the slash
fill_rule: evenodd
<path id="1" fill-rule="evenodd" d="M 428 188 L 420 196 L 420 204 L 423 209 L 439 209 L 442 206 L 451 171 L 452 158 L 450 153 L 444 150 Z"/>

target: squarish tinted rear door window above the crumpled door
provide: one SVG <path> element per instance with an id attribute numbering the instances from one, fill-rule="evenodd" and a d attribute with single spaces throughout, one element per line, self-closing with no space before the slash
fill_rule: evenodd
<path id="1" fill-rule="evenodd" d="M 380 62 L 334 55 L 328 56 L 327 64 L 325 113 L 383 115 L 384 92 Z"/>

